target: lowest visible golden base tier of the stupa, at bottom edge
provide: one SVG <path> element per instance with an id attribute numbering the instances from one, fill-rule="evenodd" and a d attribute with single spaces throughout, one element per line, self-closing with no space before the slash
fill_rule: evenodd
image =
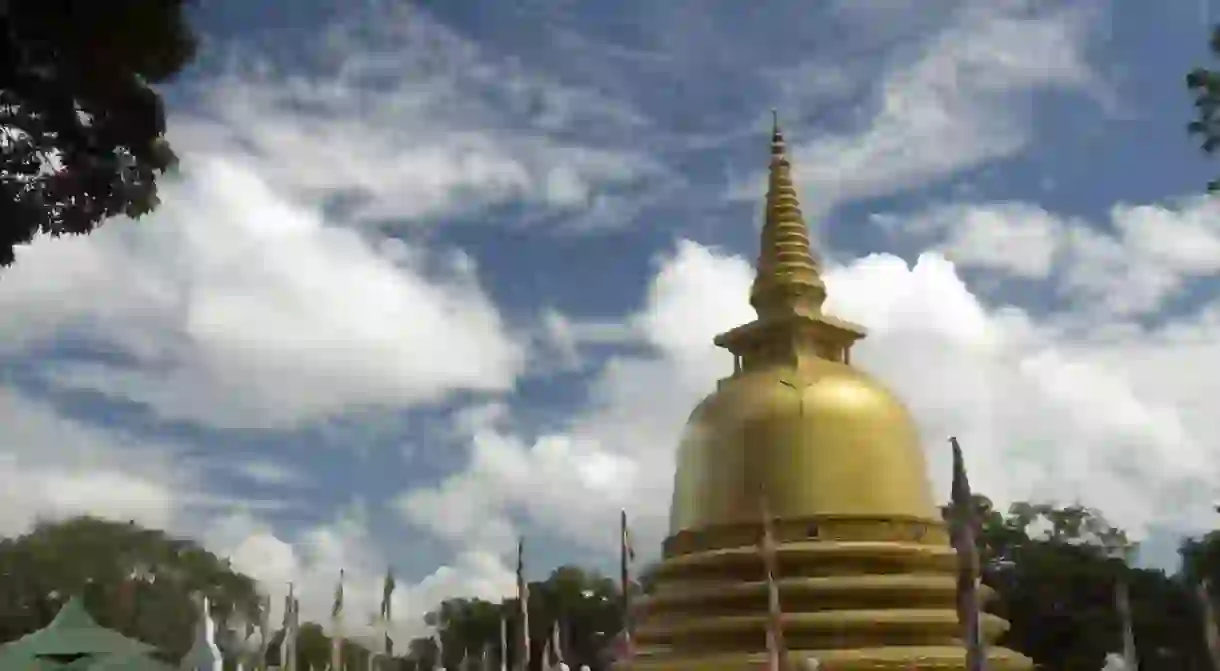
<path id="1" fill-rule="evenodd" d="M 891 647 L 845 650 L 789 650 L 791 671 L 806 671 L 816 659 L 821 671 L 965 671 L 966 650 L 946 647 Z M 766 671 L 767 654 L 725 653 L 714 655 L 675 655 L 661 650 L 640 653 L 631 662 L 620 662 L 615 671 Z M 1030 671 L 1033 661 L 1005 648 L 987 651 L 988 671 Z"/>

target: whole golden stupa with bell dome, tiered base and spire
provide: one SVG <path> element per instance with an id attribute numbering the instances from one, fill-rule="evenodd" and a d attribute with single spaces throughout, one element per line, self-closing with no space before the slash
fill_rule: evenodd
<path id="1" fill-rule="evenodd" d="M 765 493 L 788 664 L 963 670 L 955 555 L 915 425 L 850 366 L 865 331 L 822 312 L 826 287 L 778 124 L 761 238 L 758 320 L 715 339 L 733 373 L 691 415 L 678 449 L 670 536 L 655 589 L 634 609 L 630 666 L 765 667 Z M 987 642 L 1008 627 L 993 615 L 981 625 Z M 987 656 L 991 671 L 1032 666 L 1004 648 Z"/>

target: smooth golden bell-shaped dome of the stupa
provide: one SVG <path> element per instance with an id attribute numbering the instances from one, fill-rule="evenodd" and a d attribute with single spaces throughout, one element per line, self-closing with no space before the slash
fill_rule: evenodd
<path id="1" fill-rule="evenodd" d="M 939 522 L 915 425 L 867 375 L 813 359 L 743 371 L 691 417 L 670 533 L 756 522 L 766 492 L 783 520 L 914 516 Z"/>

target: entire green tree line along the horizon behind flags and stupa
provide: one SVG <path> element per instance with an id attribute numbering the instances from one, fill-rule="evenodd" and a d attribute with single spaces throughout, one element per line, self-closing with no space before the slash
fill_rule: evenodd
<path id="1" fill-rule="evenodd" d="M 1020 650 L 1048 671 L 1097 671 L 1107 653 L 1121 649 L 1121 623 L 1114 587 L 1130 586 L 1135 637 L 1144 671 L 1203 671 L 1210 665 L 1203 634 L 1197 584 L 1220 583 L 1220 532 L 1182 542 L 1177 572 L 1136 569 L 1126 533 L 1083 506 L 1017 503 L 997 510 L 976 497 L 983 582 L 997 597 L 988 610 L 1003 615 L 1011 630 L 1003 644 Z M 647 570 L 637 589 L 647 592 Z M 132 576 L 139 576 L 133 581 Z M 134 582 L 134 588 L 132 583 Z M 142 639 L 177 658 L 190 645 L 190 594 L 211 597 L 220 620 L 256 621 L 255 582 L 195 543 L 133 523 L 81 517 L 38 525 L 29 533 L 0 540 L 0 642 L 41 628 L 67 595 L 82 594 L 102 626 Z M 508 615 L 509 665 L 518 604 L 514 599 L 449 599 L 423 622 L 436 631 L 443 665 L 462 660 L 477 667 L 484 651 L 499 667 L 500 619 Z M 608 650 L 620 628 L 620 595 L 615 580 L 598 571 L 560 566 L 529 589 L 531 648 L 540 669 L 540 650 L 551 625 L 562 622 L 566 660 L 573 669 L 605 669 Z M 233 621 L 233 620 L 229 620 Z M 283 632 L 272 638 L 278 655 Z M 325 669 L 331 640 L 314 622 L 301 626 L 298 667 Z M 370 654 L 345 645 L 350 669 L 366 669 Z M 398 640 L 382 669 L 432 669 L 437 647 L 427 637 Z M 278 662 L 278 659 L 273 659 Z"/>

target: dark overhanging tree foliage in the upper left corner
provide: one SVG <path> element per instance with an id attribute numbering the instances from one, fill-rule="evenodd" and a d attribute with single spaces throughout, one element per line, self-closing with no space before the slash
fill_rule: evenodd
<path id="1" fill-rule="evenodd" d="M 157 205 L 176 163 L 152 84 L 195 55 L 187 0 L 7 0 L 0 13 L 0 267 L 37 234 Z"/>

